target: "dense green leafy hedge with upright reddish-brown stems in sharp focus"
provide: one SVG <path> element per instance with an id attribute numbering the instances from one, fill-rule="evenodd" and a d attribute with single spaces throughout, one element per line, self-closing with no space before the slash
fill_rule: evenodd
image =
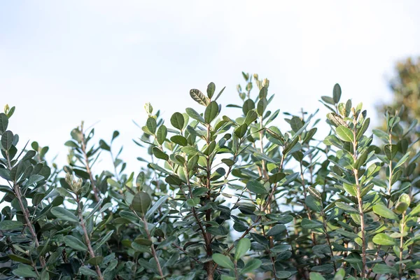
<path id="1" fill-rule="evenodd" d="M 117 131 L 97 141 L 83 123 L 64 167 L 36 142 L 18 151 L 6 106 L 2 279 L 416 279 L 416 121 L 386 112 L 386 130 L 372 130 L 339 85 L 321 97 L 326 118 L 280 120 L 269 80 L 243 76 L 233 116 L 214 83 L 169 120 L 146 104 L 139 173 L 114 152 Z M 114 170 L 96 168 L 104 153 Z"/>

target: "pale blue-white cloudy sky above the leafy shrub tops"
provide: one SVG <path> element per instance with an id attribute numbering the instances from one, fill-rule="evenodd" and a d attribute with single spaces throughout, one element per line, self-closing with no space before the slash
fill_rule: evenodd
<path id="1" fill-rule="evenodd" d="M 191 88 L 213 81 L 226 86 L 223 105 L 239 103 L 241 71 L 269 78 L 281 112 L 315 111 L 339 83 L 342 99 L 375 119 L 395 62 L 419 55 L 419 10 L 419 1 L 2 1 L 0 107 L 16 106 L 9 129 L 50 146 L 59 163 L 81 120 L 98 141 L 119 130 L 134 172 L 132 120 L 146 122 L 146 102 L 169 123 L 197 108 Z"/>

